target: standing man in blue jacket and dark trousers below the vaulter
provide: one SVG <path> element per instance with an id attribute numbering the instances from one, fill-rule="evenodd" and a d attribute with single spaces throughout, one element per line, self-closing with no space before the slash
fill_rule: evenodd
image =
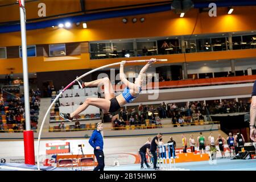
<path id="1" fill-rule="evenodd" d="M 98 166 L 93 171 L 104 171 L 104 152 L 103 152 L 103 137 L 101 131 L 103 130 L 103 123 L 97 123 L 97 130 L 94 130 L 89 139 L 90 146 L 94 148 L 94 155 L 96 156 Z"/>

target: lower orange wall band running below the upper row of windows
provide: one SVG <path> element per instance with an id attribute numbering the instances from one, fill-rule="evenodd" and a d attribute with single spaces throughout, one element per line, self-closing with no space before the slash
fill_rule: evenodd
<path id="1" fill-rule="evenodd" d="M 90 60 L 89 53 L 82 53 L 80 56 L 65 56 L 57 57 L 59 60 L 47 61 L 51 57 L 28 57 L 28 72 L 48 72 L 48 71 L 65 71 L 73 69 L 90 69 L 98 68 L 103 65 L 117 63 L 122 60 L 143 60 L 151 59 L 167 59 L 166 63 L 183 63 L 185 61 L 184 54 L 175 55 L 159 55 L 159 56 L 141 56 L 129 58 L 116 58 L 116 59 L 97 59 Z M 187 53 L 185 55 L 187 62 L 192 61 L 211 61 L 211 60 L 226 60 L 237 58 L 251 58 L 256 57 L 255 49 L 242 49 L 233 51 L 216 51 L 216 52 L 200 52 L 200 53 Z M 65 60 L 64 60 L 65 59 Z M 14 68 L 14 73 L 22 73 L 22 59 L 0 59 L 0 73 L 10 73 L 8 68 Z M 129 65 L 144 65 L 144 63 L 130 63 Z M 118 66 L 117 66 L 118 67 Z"/>

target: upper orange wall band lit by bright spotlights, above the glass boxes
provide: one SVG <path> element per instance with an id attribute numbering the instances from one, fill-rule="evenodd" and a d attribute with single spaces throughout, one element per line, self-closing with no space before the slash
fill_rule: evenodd
<path id="1" fill-rule="evenodd" d="M 247 8 L 247 7 L 246 7 Z M 256 7 L 236 7 L 234 14 L 227 15 L 226 8 L 218 9 L 217 17 L 209 17 L 208 13 L 200 13 L 196 23 L 198 10 L 193 9 L 184 18 L 174 11 L 137 15 L 144 17 L 145 22 L 122 23 L 122 18 L 101 19 L 87 22 L 88 28 L 82 25 L 71 29 L 44 28 L 27 31 L 27 44 L 51 44 L 69 42 L 87 42 L 109 39 L 146 38 L 154 36 L 177 36 L 193 34 L 212 34 L 218 32 L 236 32 L 256 30 Z M 196 23 L 196 24 L 195 24 Z M 0 46 L 20 46 L 20 32 L 0 34 Z"/>

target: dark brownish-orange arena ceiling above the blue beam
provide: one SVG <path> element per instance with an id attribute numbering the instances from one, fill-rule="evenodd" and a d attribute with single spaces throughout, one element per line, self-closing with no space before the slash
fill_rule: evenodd
<path id="1" fill-rule="evenodd" d="M 26 0 L 25 6 L 27 22 L 35 22 L 45 19 L 64 18 L 67 16 L 102 13 L 104 11 L 135 9 L 162 5 L 171 7 L 171 3 L 175 1 L 181 0 Z M 229 0 L 183 0 L 183 2 L 186 3 L 189 1 L 193 1 L 194 3 L 230 2 Z M 40 3 L 44 3 L 46 5 L 46 17 L 44 18 L 38 16 L 38 5 Z M 16 0 L 0 0 L 0 26 L 15 23 L 19 23 L 18 3 L 16 3 Z"/>

